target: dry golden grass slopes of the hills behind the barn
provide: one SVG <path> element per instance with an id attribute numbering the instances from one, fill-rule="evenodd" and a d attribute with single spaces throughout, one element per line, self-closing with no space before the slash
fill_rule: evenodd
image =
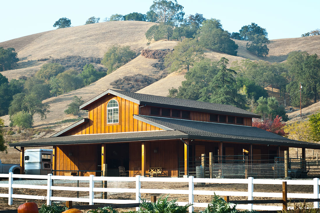
<path id="1" fill-rule="evenodd" d="M 18 69 L 8 70 L 2 72 L 2 74 L 9 80 L 19 78 L 23 75 L 33 75 L 41 67 L 42 63 L 44 63 L 37 61 L 37 59 L 41 58 L 62 58 L 68 55 L 102 58 L 104 52 L 113 44 L 129 45 L 135 51 L 140 51 L 143 48 L 173 48 L 177 44 L 177 41 L 161 40 L 153 42 L 147 47 L 146 44 L 148 41 L 145 38 L 145 32 L 154 24 L 155 23 L 141 21 L 110 21 L 56 29 L 2 42 L 0 46 L 15 48 L 20 58 Z M 230 56 L 225 53 L 213 51 L 206 51 L 205 54 L 208 58 L 214 60 L 226 57 L 230 62 L 246 58 L 282 62 L 291 51 L 308 51 L 309 53 L 320 54 L 320 36 L 272 40 L 270 44 L 268 44 L 268 48 L 270 49 L 269 56 L 265 58 L 258 58 L 248 52 L 245 49 L 246 42 L 235 41 L 239 45 L 238 56 Z M 123 76 L 136 75 L 138 73 L 149 76 L 158 75 L 156 69 L 151 66 L 151 64 L 156 61 L 156 59 L 146 59 L 138 56 L 112 74 L 101 78 L 91 85 L 44 100 L 45 103 L 50 104 L 51 113 L 49 113 L 47 119 L 43 121 L 35 117 L 34 124 L 36 126 L 42 126 L 66 119 L 67 116 L 63 111 L 71 102 L 74 95 L 82 96 L 86 101 L 106 89 L 112 88 L 110 83 Z M 168 89 L 171 89 L 172 86 L 177 88 L 181 85 L 181 82 L 184 80 L 184 74 L 184 72 L 171 73 L 138 92 L 166 96 Z M 3 116 L 3 118 L 5 123 L 8 124 L 8 116 Z"/>

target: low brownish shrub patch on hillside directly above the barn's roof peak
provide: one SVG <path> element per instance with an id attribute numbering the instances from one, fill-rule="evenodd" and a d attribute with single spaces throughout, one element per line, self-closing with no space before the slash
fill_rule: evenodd
<path id="1" fill-rule="evenodd" d="M 124 76 L 110 83 L 113 88 L 127 91 L 135 92 L 145 88 L 146 86 L 156 82 L 158 79 L 149 77 L 148 75 L 135 75 L 135 76 Z"/>

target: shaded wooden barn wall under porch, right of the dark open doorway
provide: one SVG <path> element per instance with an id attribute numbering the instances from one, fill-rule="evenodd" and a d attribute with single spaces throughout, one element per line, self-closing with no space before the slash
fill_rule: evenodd
<path id="1" fill-rule="evenodd" d="M 146 142 L 146 171 L 150 167 L 162 167 L 170 177 L 178 176 L 179 150 L 183 151 L 181 141 L 154 141 Z M 154 150 L 158 152 L 155 153 Z M 129 166 L 130 176 L 133 175 L 133 167 L 139 167 L 141 170 L 141 143 L 129 144 Z M 183 155 L 182 155 L 183 157 Z"/>

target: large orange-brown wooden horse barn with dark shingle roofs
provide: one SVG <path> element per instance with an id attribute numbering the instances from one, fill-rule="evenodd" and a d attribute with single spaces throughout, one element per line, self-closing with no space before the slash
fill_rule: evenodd
<path id="1" fill-rule="evenodd" d="M 80 109 L 88 118 L 51 137 L 10 144 L 20 166 L 25 147 L 53 146 L 54 175 L 303 177 L 313 166 L 305 149 L 320 149 L 252 127 L 260 116 L 230 105 L 109 89 Z"/>

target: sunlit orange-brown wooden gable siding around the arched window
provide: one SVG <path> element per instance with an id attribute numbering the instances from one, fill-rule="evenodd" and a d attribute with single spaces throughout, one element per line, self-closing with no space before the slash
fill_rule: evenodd
<path id="1" fill-rule="evenodd" d="M 119 103 L 119 124 L 107 124 L 107 104 L 110 99 Z M 141 107 L 144 108 L 144 107 Z M 89 106 L 88 118 L 90 121 L 75 129 L 69 130 L 62 136 L 116 133 L 132 131 L 162 130 L 153 125 L 133 119 L 133 114 L 139 114 L 139 105 L 132 101 L 117 97 L 107 96 Z"/>

